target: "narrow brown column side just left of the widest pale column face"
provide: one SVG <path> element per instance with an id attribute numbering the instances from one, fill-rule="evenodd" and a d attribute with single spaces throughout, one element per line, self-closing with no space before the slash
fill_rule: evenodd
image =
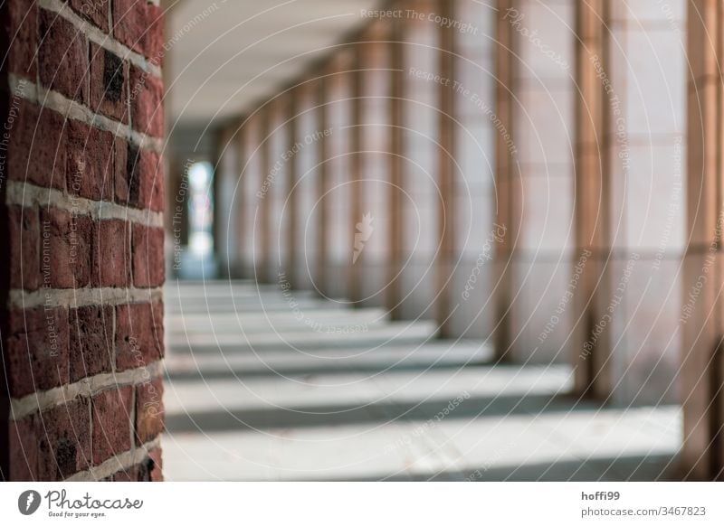
<path id="1" fill-rule="evenodd" d="M 573 363 L 576 392 L 606 399 L 611 389 L 611 339 L 601 334 L 588 342 L 597 320 L 605 314 L 602 296 L 608 289 L 606 264 L 610 257 L 610 162 L 605 155 L 605 86 L 600 68 L 609 70 L 608 3 L 590 0 L 576 4 L 576 288 Z"/>

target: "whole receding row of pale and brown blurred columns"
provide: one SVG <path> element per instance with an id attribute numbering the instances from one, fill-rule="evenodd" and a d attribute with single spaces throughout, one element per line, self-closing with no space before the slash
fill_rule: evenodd
<path id="1" fill-rule="evenodd" d="M 237 185 L 217 217 L 234 225 L 216 240 L 222 266 L 434 319 L 499 360 L 570 362 L 584 397 L 681 400 L 685 475 L 716 478 L 720 2 L 681 0 L 685 18 L 606 0 L 495 4 L 392 2 L 480 32 L 370 20 L 224 132 L 217 177 Z M 658 49 L 672 35 L 671 63 L 648 70 L 639 39 Z M 685 113 L 675 88 L 671 108 L 645 113 L 658 74 L 685 84 Z M 654 163 L 683 150 L 686 169 L 664 176 Z"/>

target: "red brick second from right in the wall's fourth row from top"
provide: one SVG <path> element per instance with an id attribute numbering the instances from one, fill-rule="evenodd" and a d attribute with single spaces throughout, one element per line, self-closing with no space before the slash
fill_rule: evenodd
<path id="1" fill-rule="evenodd" d="M 95 230 L 91 282 L 94 286 L 128 286 L 129 223 L 120 220 L 98 221 Z"/>

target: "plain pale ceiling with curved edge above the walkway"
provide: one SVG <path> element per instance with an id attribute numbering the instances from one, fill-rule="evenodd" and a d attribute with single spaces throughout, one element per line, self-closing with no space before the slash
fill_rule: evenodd
<path id="1" fill-rule="evenodd" d="M 176 0 L 167 10 L 170 127 L 216 122 L 293 80 L 374 0 Z"/>

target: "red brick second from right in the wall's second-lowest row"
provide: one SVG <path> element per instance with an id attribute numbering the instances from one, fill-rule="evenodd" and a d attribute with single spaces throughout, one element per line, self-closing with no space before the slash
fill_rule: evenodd
<path id="1" fill-rule="evenodd" d="M 132 393 L 127 386 L 93 397 L 93 464 L 129 451 Z"/>

